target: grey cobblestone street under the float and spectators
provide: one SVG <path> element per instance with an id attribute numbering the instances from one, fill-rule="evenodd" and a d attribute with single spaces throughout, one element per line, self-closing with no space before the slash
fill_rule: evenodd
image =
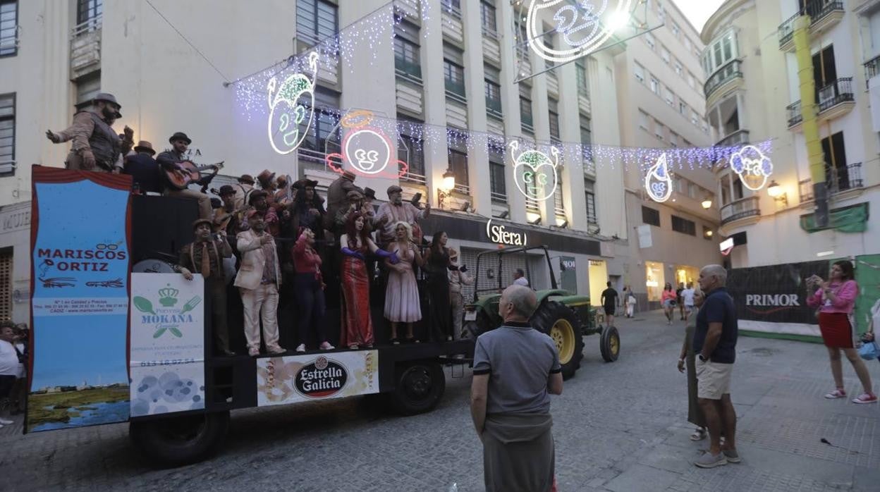
<path id="1" fill-rule="evenodd" d="M 701 470 L 691 462 L 708 443 L 688 439 L 686 379 L 675 369 L 683 322 L 648 312 L 618 325 L 620 360 L 603 363 L 598 336 L 588 337 L 580 371 L 554 397 L 560 490 L 880 488 L 880 406 L 822 398 L 832 386 L 823 346 L 739 339 L 732 396 L 743 463 Z M 869 369 L 880 389 L 880 364 Z M 470 371 L 456 371 L 428 415 L 377 415 L 358 399 L 233 413 L 219 455 L 169 470 L 143 462 L 127 425 L 22 436 L 19 416 L 0 430 L 0 488 L 481 490 Z M 847 392 L 861 393 L 848 363 L 844 374 Z"/>

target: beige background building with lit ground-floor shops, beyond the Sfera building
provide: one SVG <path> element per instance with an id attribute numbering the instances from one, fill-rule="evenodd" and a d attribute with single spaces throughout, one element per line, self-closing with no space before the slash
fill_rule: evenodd
<path id="1" fill-rule="evenodd" d="M 636 9 L 647 28 L 616 57 L 620 139 L 627 147 L 674 149 L 715 144 L 703 118 L 700 35 L 672 2 L 650 0 Z M 627 284 L 640 306 L 659 306 L 664 283 L 695 283 L 699 268 L 722 261 L 718 205 L 709 162 L 671 167 L 673 191 L 665 202 L 645 192 L 645 169 L 625 170 L 631 257 Z M 703 203 L 708 207 L 704 207 Z"/>

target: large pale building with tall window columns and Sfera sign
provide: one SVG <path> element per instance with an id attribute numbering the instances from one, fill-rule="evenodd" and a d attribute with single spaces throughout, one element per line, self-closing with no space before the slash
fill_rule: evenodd
<path id="1" fill-rule="evenodd" d="M 568 288 L 590 293 L 598 303 L 605 280 L 611 277 L 622 286 L 627 268 L 632 269 L 627 265 L 637 262 L 630 249 L 634 230 L 627 224 L 631 199 L 619 162 L 591 162 L 571 149 L 624 144 L 615 56 L 626 45 L 539 74 L 551 66 L 524 40 L 517 20 L 524 8 L 507 0 L 222 6 L 0 0 L 0 213 L 18 217 L 19 209 L 28 209 L 13 204 L 30 199 L 30 166 L 62 166 L 69 149 L 49 143 L 46 130 L 64 129 L 77 106 L 87 105 L 97 92 L 113 92 L 121 103 L 123 116 L 114 123 L 118 131 L 128 125 L 135 140 L 148 140 L 159 151 L 169 146 L 168 136 L 183 131 L 193 140 L 195 159 L 224 160 L 216 187 L 263 169 L 294 179 L 307 176 L 326 187 L 337 176 L 326 154 L 338 149 L 345 134 L 340 114 L 367 109 L 383 121 L 397 121 L 399 129 L 406 121 L 408 129 L 451 130 L 466 138 L 420 142 L 419 135 L 400 131 L 388 157 L 405 160 L 408 172 L 400 179 L 362 175 L 358 185 L 378 190 L 382 200 L 386 187 L 400 184 L 407 199 L 421 193 L 422 203 L 432 204 L 438 224 L 460 219 L 470 229 L 462 233 L 466 239 L 451 235 L 451 246 L 461 249 L 466 263 L 498 247 L 490 220 L 523 238 L 549 238 L 556 278 L 567 270 Z M 552 14 L 541 20 L 554 25 Z M 383 29 L 393 29 L 393 35 L 369 38 Z M 247 74 L 265 73 L 268 65 L 334 37 L 348 55 L 321 60 L 312 127 L 297 151 L 281 155 L 267 142 L 266 108 L 254 111 L 242 102 L 243 84 L 253 80 Z M 544 42 L 559 40 L 551 34 Z M 699 67 L 683 62 L 699 77 Z M 529 77 L 534 74 L 539 75 Z M 265 98 L 265 87 L 248 91 Z M 688 100 L 689 107 L 700 110 L 699 100 Z M 597 114 L 602 124 L 594 125 Z M 684 138 L 700 143 L 687 134 L 680 132 L 681 144 Z M 521 194 L 510 152 L 487 145 L 493 139 L 518 139 L 546 153 L 551 146 L 561 150 L 557 186 L 545 190 L 555 191 L 553 197 L 538 201 Z M 455 186 L 443 189 L 449 173 Z M 0 248 L 16 259 L 10 260 L 9 281 L 2 283 L 26 299 L 26 239 L 0 234 Z M 541 263 L 537 256 L 528 261 L 536 268 Z M 546 261 L 543 265 L 546 270 Z M 547 273 L 535 275 L 546 278 Z M 17 321 L 27 319 L 26 305 L 11 311 Z"/>

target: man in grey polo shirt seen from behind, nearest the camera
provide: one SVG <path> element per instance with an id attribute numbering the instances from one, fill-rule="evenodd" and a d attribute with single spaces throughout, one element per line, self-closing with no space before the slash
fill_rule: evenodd
<path id="1" fill-rule="evenodd" d="M 550 394 L 562 393 L 562 368 L 554 341 L 529 325 L 537 305 L 533 290 L 508 287 L 502 326 L 481 334 L 474 350 L 471 416 L 488 492 L 554 487 Z"/>

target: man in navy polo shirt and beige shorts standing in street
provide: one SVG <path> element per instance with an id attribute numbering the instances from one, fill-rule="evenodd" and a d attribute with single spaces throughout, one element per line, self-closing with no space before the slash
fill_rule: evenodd
<path id="1" fill-rule="evenodd" d="M 700 270 L 706 300 L 697 313 L 693 351 L 698 354 L 697 399 L 709 430 L 709 450 L 694 465 L 700 468 L 739 463 L 737 412 L 730 401 L 730 373 L 737 358 L 737 309 L 725 288 L 727 270 L 708 265 Z M 721 433 L 724 432 L 724 445 Z"/>

